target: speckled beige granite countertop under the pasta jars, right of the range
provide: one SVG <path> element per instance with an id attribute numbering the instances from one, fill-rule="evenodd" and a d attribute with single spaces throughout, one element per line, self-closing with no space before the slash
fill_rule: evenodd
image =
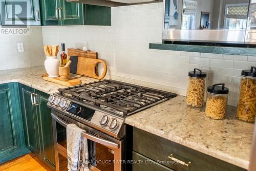
<path id="1" fill-rule="evenodd" d="M 232 106 L 224 120 L 210 119 L 203 110 L 187 107 L 185 97 L 177 96 L 127 117 L 125 123 L 248 169 L 254 124 L 237 120 Z"/>

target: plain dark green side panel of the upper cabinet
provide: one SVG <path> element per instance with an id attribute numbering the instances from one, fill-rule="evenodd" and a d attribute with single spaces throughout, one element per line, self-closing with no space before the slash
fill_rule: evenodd
<path id="1" fill-rule="evenodd" d="M 86 25 L 111 26 L 111 8 L 86 4 Z"/>

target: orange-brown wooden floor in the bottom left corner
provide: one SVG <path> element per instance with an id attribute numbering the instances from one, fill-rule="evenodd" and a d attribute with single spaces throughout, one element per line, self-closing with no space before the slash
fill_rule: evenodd
<path id="1" fill-rule="evenodd" d="M 34 154 L 16 158 L 9 162 L 0 164 L 1 171 L 52 171 L 46 164 L 42 163 Z"/>

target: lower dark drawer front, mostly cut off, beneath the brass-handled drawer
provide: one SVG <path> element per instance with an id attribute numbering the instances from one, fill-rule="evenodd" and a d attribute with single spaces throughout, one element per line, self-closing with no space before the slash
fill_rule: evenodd
<path id="1" fill-rule="evenodd" d="M 133 171 L 174 171 L 136 152 L 133 152 L 133 161 Z"/>

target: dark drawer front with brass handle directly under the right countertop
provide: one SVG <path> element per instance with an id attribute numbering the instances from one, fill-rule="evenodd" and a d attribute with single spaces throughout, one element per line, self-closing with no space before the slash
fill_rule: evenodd
<path id="1" fill-rule="evenodd" d="M 143 156 L 146 156 L 154 161 L 161 161 L 163 165 L 177 171 L 245 170 L 217 158 L 195 151 L 194 149 L 136 128 L 134 128 L 133 133 L 133 151 L 142 154 Z M 169 162 L 170 159 L 168 156 L 171 154 L 176 159 L 179 159 L 185 163 L 191 162 L 191 164 L 185 166 L 180 163 Z"/>

